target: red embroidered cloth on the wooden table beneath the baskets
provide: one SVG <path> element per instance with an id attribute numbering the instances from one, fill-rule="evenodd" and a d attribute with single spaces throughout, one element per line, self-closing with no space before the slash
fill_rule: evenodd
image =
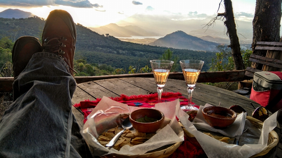
<path id="1" fill-rule="evenodd" d="M 112 100 L 127 104 L 128 106 L 138 106 L 138 107 L 146 107 L 151 108 L 155 107 L 155 104 L 158 103 L 158 94 L 148 94 L 148 95 L 132 95 L 126 96 L 121 94 L 120 97 L 111 97 Z M 181 93 L 173 93 L 173 92 L 163 92 L 162 93 L 162 102 L 174 101 L 175 99 L 179 99 L 180 106 L 186 106 L 188 104 L 188 100 L 182 96 Z M 97 98 L 95 101 L 85 100 L 80 101 L 80 103 L 75 104 L 74 107 L 80 107 L 82 112 L 84 113 L 85 123 L 87 121 L 87 116 L 91 113 L 91 111 L 95 108 L 95 106 L 101 101 L 101 98 Z M 195 107 L 199 108 L 199 106 L 192 103 Z M 196 147 L 186 138 L 184 142 L 178 147 L 178 149 L 169 156 L 169 158 L 194 158 L 202 155 L 204 153 L 202 148 Z"/>

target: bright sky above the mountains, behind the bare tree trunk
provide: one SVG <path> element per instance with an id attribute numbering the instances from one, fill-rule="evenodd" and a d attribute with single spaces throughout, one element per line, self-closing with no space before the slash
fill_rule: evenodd
<path id="1" fill-rule="evenodd" d="M 223 0 L 0 0 L 0 12 L 20 9 L 41 18 L 50 11 L 68 11 L 75 23 L 99 27 L 134 14 L 162 15 L 172 20 L 204 19 L 224 12 Z M 256 0 L 232 0 L 236 20 L 251 22 Z M 219 8 L 219 11 L 217 12 Z"/>

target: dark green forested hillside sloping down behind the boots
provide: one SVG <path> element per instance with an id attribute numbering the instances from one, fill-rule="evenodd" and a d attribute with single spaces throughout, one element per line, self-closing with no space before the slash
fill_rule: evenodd
<path id="1" fill-rule="evenodd" d="M 7 19 L 0 18 L 0 38 L 9 37 L 13 41 L 21 36 L 34 36 L 41 39 L 44 19 L 38 17 Z M 167 47 L 157 47 L 124 42 L 113 36 L 100 35 L 80 24 L 76 25 L 77 41 L 75 59 L 84 59 L 88 63 L 108 64 L 115 68 L 128 69 L 130 65 L 144 67 L 148 61 L 159 59 Z M 173 49 L 173 55 L 182 59 L 199 59 L 205 62 L 203 70 L 209 69 L 209 63 L 215 53 Z M 180 71 L 180 67 L 176 69 Z"/>

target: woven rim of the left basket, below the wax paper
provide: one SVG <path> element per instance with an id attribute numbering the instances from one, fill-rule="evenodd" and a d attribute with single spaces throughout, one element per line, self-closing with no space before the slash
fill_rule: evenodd
<path id="1" fill-rule="evenodd" d="M 120 154 L 108 154 L 105 156 L 100 156 L 103 158 L 167 158 L 171 155 L 180 145 L 182 142 L 177 142 L 173 145 L 166 145 L 164 147 L 160 147 L 153 151 L 147 152 L 142 155 L 120 155 Z M 167 147 L 168 146 L 168 147 Z"/>

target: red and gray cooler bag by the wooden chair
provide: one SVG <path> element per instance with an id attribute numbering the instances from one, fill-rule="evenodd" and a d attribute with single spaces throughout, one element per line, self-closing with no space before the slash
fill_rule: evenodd
<path id="1" fill-rule="evenodd" d="M 282 72 L 255 72 L 250 99 L 266 107 L 271 112 L 281 109 Z"/>

